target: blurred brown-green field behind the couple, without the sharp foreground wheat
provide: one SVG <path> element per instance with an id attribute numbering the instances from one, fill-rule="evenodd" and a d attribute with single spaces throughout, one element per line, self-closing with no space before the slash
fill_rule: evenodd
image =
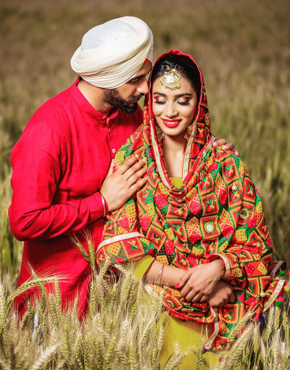
<path id="1" fill-rule="evenodd" d="M 135 15 L 154 58 L 191 53 L 205 77 L 212 131 L 233 142 L 258 187 L 275 258 L 290 262 L 290 32 L 288 0 L 2 0 L 0 268 L 17 278 L 21 243 L 9 233 L 10 152 L 33 112 L 75 80 L 70 58 L 91 27 Z"/>

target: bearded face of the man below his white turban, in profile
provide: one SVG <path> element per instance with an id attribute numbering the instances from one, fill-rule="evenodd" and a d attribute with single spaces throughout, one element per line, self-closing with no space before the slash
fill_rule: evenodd
<path id="1" fill-rule="evenodd" d="M 115 89 L 104 89 L 103 101 L 113 107 L 123 110 L 125 113 L 134 113 L 138 101 L 148 94 L 149 87 L 146 76 L 150 72 L 152 63 L 147 61 L 143 64 L 137 75 L 124 85 Z"/>

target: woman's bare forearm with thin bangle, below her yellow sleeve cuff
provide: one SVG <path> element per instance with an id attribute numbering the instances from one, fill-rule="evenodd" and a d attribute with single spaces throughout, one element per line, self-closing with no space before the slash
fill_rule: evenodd
<path id="1" fill-rule="evenodd" d="M 159 275 L 162 265 L 158 261 L 154 261 L 146 274 L 146 281 L 148 283 L 157 283 L 161 285 L 168 285 L 175 287 L 179 279 L 186 272 L 178 267 L 164 265 L 161 276 Z M 161 278 L 161 279 L 160 279 Z"/>

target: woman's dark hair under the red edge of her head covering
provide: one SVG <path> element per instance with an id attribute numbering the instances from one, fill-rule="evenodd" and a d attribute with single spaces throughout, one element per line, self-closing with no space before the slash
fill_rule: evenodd
<path id="1" fill-rule="evenodd" d="M 153 67 L 151 84 L 153 84 L 157 78 L 163 76 L 164 72 L 174 68 L 190 82 L 197 95 L 198 101 L 201 92 L 200 72 L 193 61 L 185 55 L 167 54 L 164 58 L 161 58 Z"/>

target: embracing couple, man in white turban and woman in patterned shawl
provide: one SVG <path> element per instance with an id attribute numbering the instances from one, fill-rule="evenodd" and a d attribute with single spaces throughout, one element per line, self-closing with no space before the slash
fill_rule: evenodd
<path id="1" fill-rule="evenodd" d="M 219 352 L 245 312 L 255 307 L 258 319 L 284 282 L 270 276 L 279 266 L 260 195 L 211 134 L 200 68 L 178 50 L 151 70 L 152 60 L 152 32 L 138 18 L 89 30 L 71 59 L 79 79 L 27 124 L 11 156 L 10 226 L 25 241 L 19 284 L 27 263 L 65 273 L 63 300 L 78 291 L 84 312 L 92 271 L 70 234 L 86 229 L 98 264 L 134 261 L 164 292 L 164 353 L 175 340 L 198 342 L 204 326 L 205 350 Z M 35 294 L 19 298 L 21 310 Z"/>

